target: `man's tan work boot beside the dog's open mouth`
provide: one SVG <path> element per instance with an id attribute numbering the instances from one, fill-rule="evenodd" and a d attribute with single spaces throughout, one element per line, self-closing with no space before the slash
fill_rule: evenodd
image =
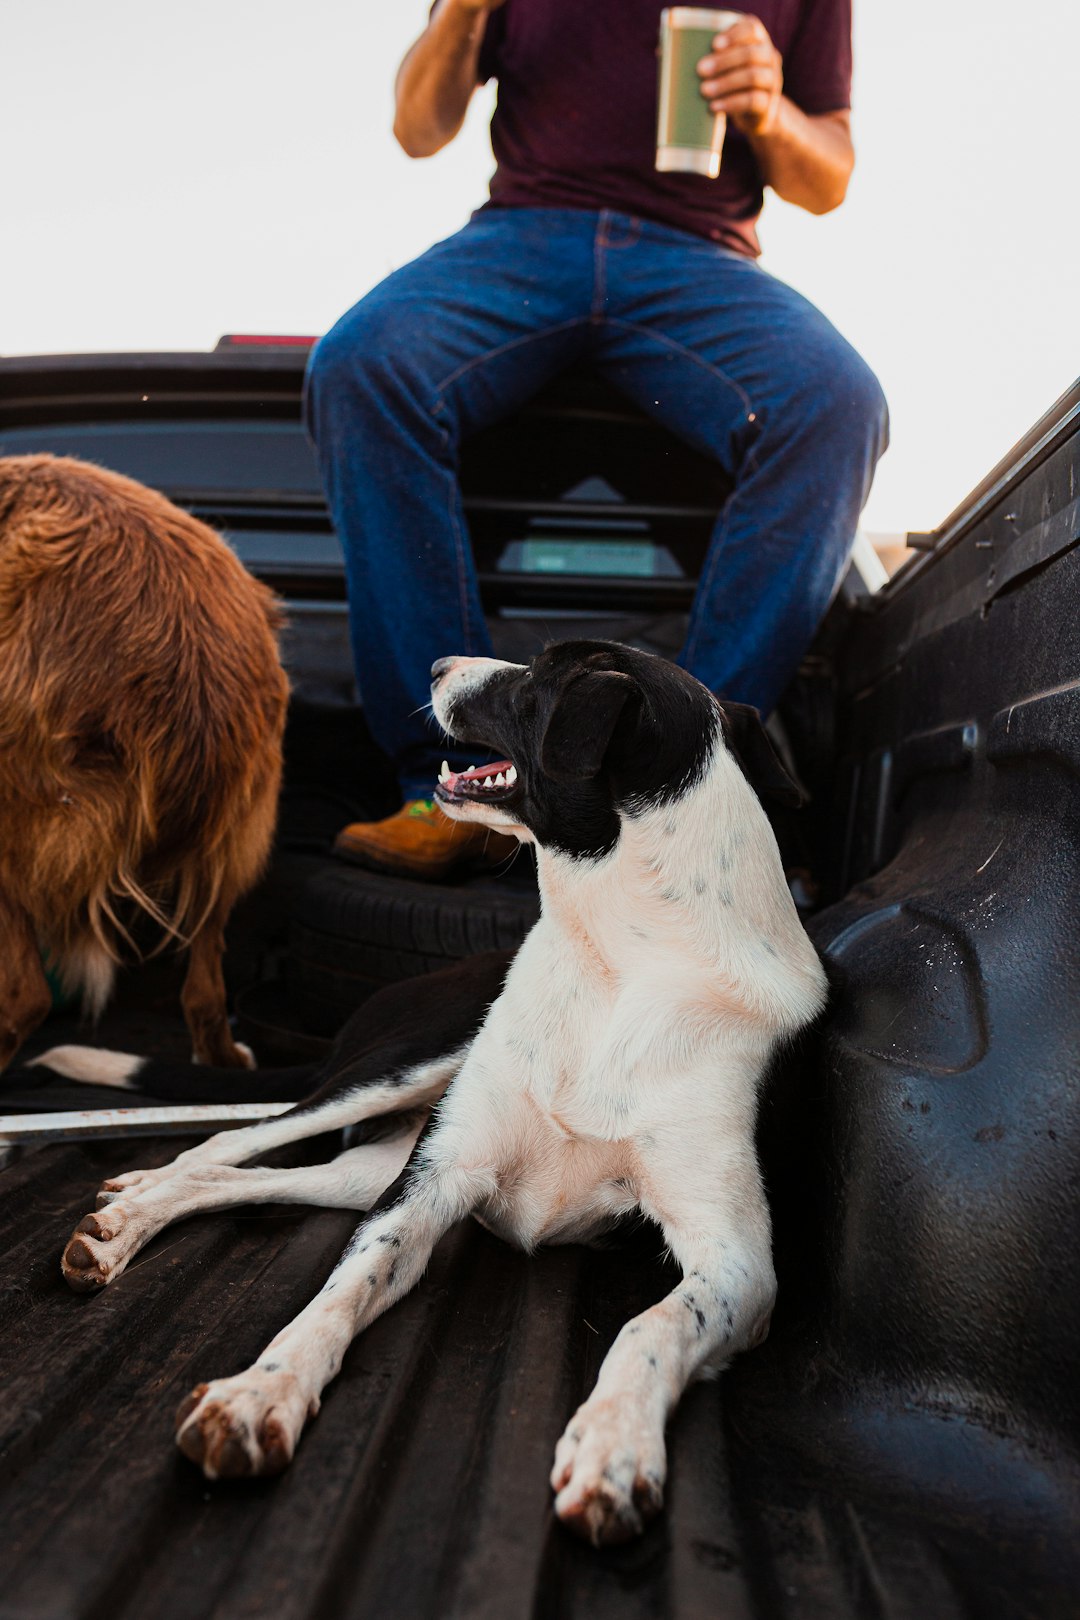
<path id="1" fill-rule="evenodd" d="M 353 821 L 334 839 L 334 854 L 372 872 L 437 883 L 460 867 L 495 867 L 517 849 L 486 826 L 452 821 L 431 799 L 410 799 L 385 821 Z"/>

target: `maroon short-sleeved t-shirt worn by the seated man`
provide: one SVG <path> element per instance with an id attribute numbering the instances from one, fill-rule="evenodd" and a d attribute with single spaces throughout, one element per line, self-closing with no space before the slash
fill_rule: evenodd
<path id="1" fill-rule="evenodd" d="M 487 18 L 479 78 L 499 81 L 491 125 L 495 207 L 617 209 L 758 254 L 761 170 L 729 123 L 716 180 L 657 173 L 664 0 L 505 0 Z M 850 105 L 852 0 L 756 0 L 806 113 Z"/>

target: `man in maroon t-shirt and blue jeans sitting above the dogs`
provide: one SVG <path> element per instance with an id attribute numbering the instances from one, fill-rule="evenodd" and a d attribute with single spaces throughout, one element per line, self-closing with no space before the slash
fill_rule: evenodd
<path id="1" fill-rule="evenodd" d="M 850 0 L 758 0 L 714 39 L 701 92 L 721 175 L 657 173 L 661 0 L 440 0 L 397 81 L 395 134 L 445 146 L 499 81 L 491 201 L 368 293 L 314 350 L 308 420 L 345 548 L 356 676 L 403 808 L 337 839 L 440 878 L 495 860 L 431 802 L 424 721 L 442 653 L 491 656 L 457 480 L 466 434 L 573 361 L 712 455 L 733 483 L 680 663 L 767 713 L 844 572 L 887 442 L 881 389 L 824 316 L 756 262 L 763 186 L 844 201 Z M 450 765 L 468 761 L 452 747 Z"/>

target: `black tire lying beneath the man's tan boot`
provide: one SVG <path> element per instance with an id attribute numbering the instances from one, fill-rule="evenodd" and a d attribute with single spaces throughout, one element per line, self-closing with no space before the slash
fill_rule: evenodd
<path id="1" fill-rule="evenodd" d="M 325 1027 L 382 985 L 431 974 L 478 951 L 512 951 L 539 915 L 520 878 L 416 883 L 321 862 L 293 906 L 288 978 L 298 1004 Z"/>

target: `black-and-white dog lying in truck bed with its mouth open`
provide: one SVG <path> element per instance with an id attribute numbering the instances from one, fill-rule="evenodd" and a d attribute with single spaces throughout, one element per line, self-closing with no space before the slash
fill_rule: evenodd
<path id="1" fill-rule="evenodd" d="M 100 1288 L 198 1210 L 372 1210 L 256 1364 L 178 1413 L 180 1448 L 210 1477 L 270 1474 L 353 1336 L 413 1288 L 453 1221 L 476 1215 L 533 1249 L 641 1210 L 683 1280 L 622 1328 L 551 1476 L 563 1523 L 622 1541 L 661 1507 L 664 1427 L 687 1382 L 769 1325 L 758 1092 L 777 1043 L 826 996 L 748 774 L 764 773 L 763 791 L 790 782 L 755 711 L 615 643 L 565 642 L 528 667 L 444 658 L 432 677 L 445 731 L 504 757 L 444 770 L 439 804 L 536 846 L 541 920 L 508 972 L 478 957 L 393 987 L 374 1025 L 358 1013 L 295 1111 L 107 1181 L 63 1272 Z M 329 1165 L 235 1168 L 381 1115 L 402 1134 Z"/>

